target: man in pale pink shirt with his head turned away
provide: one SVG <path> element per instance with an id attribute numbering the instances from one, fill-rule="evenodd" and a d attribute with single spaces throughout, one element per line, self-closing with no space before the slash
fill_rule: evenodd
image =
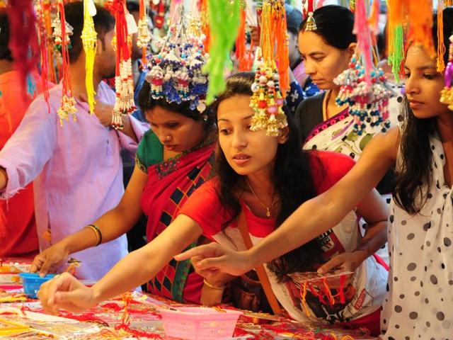
<path id="1" fill-rule="evenodd" d="M 81 43 L 83 4 L 65 6 L 66 21 L 74 28 L 69 50 L 69 70 L 76 117 L 59 125 L 57 110 L 62 83 L 51 89 L 50 113 L 44 97 L 31 103 L 25 117 L 0 152 L 0 198 L 8 199 L 34 181 L 35 217 L 40 249 L 86 227 L 114 208 L 122 197 L 121 149 L 134 154 L 147 125 L 132 117 L 123 118 L 124 130 L 105 126 L 115 93 L 101 79 L 115 73 L 115 52 L 111 40 L 115 21 L 105 8 L 97 6 L 93 17 L 98 33 L 94 64 L 96 115 L 89 114 L 85 87 L 85 54 Z M 101 123 L 102 122 L 102 123 Z M 97 280 L 127 254 L 125 236 L 74 254 L 82 261 L 80 278 Z"/>

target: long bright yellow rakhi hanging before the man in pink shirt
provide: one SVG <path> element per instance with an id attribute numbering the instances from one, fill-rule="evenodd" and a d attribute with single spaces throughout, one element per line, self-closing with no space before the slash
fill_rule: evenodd
<path id="1" fill-rule="evenodd" d="M 84 29 L 82 30 L 82 44 L 85 51 L 85 86 L 90 113 L 94 113 L 94 95 L 96 94 L 93 83 L 94 58 L 96 55 L 96 41 L 98 33 L 94 29 L 93 16 L 96 16 L 96 6 L 93 0 L 84 0 Z"/>

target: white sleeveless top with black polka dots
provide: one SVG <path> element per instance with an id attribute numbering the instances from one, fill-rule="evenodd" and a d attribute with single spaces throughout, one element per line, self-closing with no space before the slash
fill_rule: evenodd
<path id="1" fill-rule="evenodd" d="M 439 137 L 430 142 L 432 183 L 422 212 L 411 216 L 390 205 L 385 340 L 453 340 L 453 190 L 445 183 Z"/>

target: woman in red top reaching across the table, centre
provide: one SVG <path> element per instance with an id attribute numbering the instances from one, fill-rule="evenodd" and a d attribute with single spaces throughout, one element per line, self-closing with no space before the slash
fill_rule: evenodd
<path id="1" fill-rule="evenodd" d="M 327 190 L 346 174 L 353 165 L 348 157 L 302 152 L 299 134 L 290 120 L 289 126 L 280 130 L 277 137 L 250 129 L 254 113 L 250 107 L 253 79 L 251 73 L 230 77 L 226 91 L 214 104 L 220 146 L 217 179 L 197 189 L 171 225 L 147 246 L 117 263 L 92 288 L 66 273 L 43 285 L 38 295 L 45 310 L 53 313 L 60 307 L 84 310 L 130 290 L 155 276 L 200 234 L 217 242 L 231 241 L 237 248 L 243 248 L 236 227 L 241 210 L 246 216 L 251 239 L 257 242 L 304 201 Z M 357 205 L 357 214 L 369 224 L 363 239 L 358 232 L 357 216 L 352 211 L 332 229 L 319 226 L 308 245 L 268 263 L 273 291 L 294 318 L 301 320 L 305 316 L 290 275 L 314 271 L 321 263 L 341 253 L 345 257 L 345 269 L 357 269 L 350 280 L 352 294 L 345 303 L 333 307 L 321 306 L 307 298 L 311 318 L 326 323 L 357 321 L 360 326 L 369 322 L 367 326 L 374 333 L 379 331 L 379 307 L 385 293 L 386 274 L 369 258 L 386 242 L 386 205 L 377 191 L 370 192 Z M 207 278 L 210 279 L 211 276 Z M 220 286 L 224 283 L 222 280 L 224 278 L 209 283 Z"/>

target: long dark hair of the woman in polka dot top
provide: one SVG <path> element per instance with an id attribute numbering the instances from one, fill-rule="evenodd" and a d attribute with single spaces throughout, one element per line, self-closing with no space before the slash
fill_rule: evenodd
<path id="1" fill-rule="evenodd" d="M 448 62 L 449 36 L 453 33 L 453 8 L 444 9 L 444 54 Z M 433 16 L 432 38 L 437 49 L 437 14 Z M 402 106 L 406 118 L 401 134 L 401 170 L 396 174 L 394 198 L 396 204 L 411 214 L 418 213 L 425 204 L 432 179 L 430 130 L 435 128 L 435 118 L 416 118 L 409 106 L 407 97 Z"/>

